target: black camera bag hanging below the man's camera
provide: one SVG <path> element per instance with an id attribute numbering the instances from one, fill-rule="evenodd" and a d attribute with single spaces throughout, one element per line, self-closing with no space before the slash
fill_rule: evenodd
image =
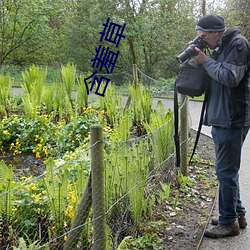
<path id="1" fill-rule="evenodd" d="M 209 79 L 203 65 L 197 64 L 192 58 L 181 64 L 180 74 L 175 81 L 177 92 L 191 97 L 201 96 Z"/>

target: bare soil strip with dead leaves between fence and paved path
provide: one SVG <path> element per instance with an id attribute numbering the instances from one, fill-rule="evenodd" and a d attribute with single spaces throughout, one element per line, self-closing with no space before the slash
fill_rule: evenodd
<path id="1" fill-rule="evenodd" d="M 191 138 L 195 138 L 195 134 L 191 131 Z M 193 140 L 190 146 L 193 146 Z M 164 242 L 164 250 L 199 249 L 217 194 L 218 183 L 214 162 L 213 141 L 210 137 L 201 134 L 194 163 L 188 170 L 192 183 L 187 184 L 185 188 L 179 187 L 176 209 L 173 209 L 171 202 L 158 208 L 161 213 L 164 212 L 167 215 L 167 227 L 159 230 L 159 235 L 162 235 Z M 176 195 L 172 195 L 172 199 L 175 197 Z"/>

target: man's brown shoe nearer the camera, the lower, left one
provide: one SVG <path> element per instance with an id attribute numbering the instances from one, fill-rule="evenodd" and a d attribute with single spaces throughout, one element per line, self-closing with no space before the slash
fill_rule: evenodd
<path id="1" fill-rule="evenodd" d="M 215 227 L 210 229 L 206 229 L 204 235 L 209 238 L 224 238 L 228 236 L 239 235 L 240 227 L 238 222 L 234 222 L 232 224 L 218 224 Z"/>

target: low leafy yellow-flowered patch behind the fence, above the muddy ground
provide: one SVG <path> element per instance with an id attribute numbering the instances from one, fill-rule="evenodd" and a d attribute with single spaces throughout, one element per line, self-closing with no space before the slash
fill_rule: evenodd
<path id="1" fill-rule="evenodd" d="M 60 156 L 74 151 L 89 140 L 90 126 L 104 122 L 104 116 L 89 106 L 71 122 L 54 123 L 51 116 L 13 115 L 0 121 L 0 150 L 11 150 L 14 155 L 33 152 L 37 158 Z"/>

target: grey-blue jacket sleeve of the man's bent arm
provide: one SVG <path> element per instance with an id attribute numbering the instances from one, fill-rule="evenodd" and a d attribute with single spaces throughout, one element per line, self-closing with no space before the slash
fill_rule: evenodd
<path id="1" fill-rule="evenodd" d="M 243 79 L 249 67 L 249 46 L 244 38 L 235 39 L 231 46 L 227 48 L 224 58 L 218 58 L 218 61 L 207 57 L 203 66 L 209 76 L 216 82 L 227 87 L 238 86 Z M 221 61 L 222 62 L 221 62 Z"/>

